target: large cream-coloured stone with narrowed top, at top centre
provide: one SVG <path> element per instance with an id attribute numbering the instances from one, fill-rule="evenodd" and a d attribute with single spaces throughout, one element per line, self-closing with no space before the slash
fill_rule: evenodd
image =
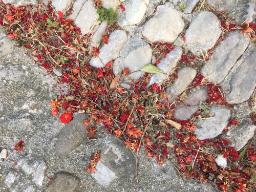
<path id="1" fill-rule="evenodd" d="M 180 12 L 166 3 L 157 7 L 156 14 L 145 24 L 142 35 L 152 42 L 173 42 L 183 28 Z"/>

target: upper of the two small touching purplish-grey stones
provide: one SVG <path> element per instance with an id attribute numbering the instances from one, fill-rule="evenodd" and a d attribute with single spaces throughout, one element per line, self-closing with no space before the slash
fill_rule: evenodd
<path id="1" fill-rule="evenodd" d="M 199 105 L 200 102 L 204 102 L 207 98 L 207 90 L 201 87 L 199 90 L 193 91 L 188 94 L 188 97 L 183 100 L 187 105 Z"/>

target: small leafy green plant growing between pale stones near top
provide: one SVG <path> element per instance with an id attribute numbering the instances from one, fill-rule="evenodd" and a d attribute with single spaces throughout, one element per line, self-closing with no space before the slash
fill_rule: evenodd
<path id="1" fill-rule="evenodd" d="M 98 20 L 101 22 L 103 20 L 106 20 L 109 24 L 113 25 L 118 17 L 117 11 L 114 11 L 112 8 L 110 9 L 105 9 L 105 8 L 98 8 L 97 13 L 99 14 Z"/>

